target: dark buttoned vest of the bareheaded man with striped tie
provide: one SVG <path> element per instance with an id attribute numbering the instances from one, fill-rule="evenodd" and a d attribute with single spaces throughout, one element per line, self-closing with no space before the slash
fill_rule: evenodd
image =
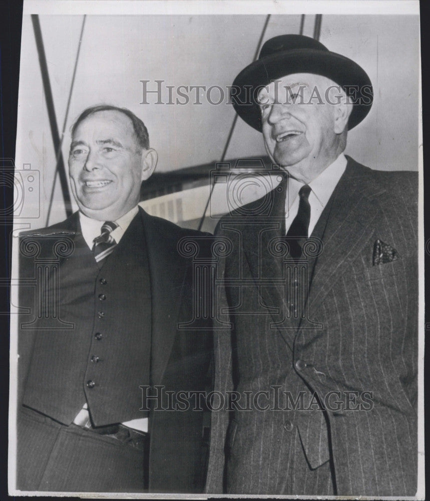
<path id="1" fill-rule="evenodd" d="M 66 425 L 85 402 L 94 426 L 146 417 L 139 386 L 150 384 L 151 287 L 140 215 L 100 263 L 76 233 L 58 281 L 47 284 L 42 294 L 59 298 L 65 324 L 34 324 L 24 405 Z"/>

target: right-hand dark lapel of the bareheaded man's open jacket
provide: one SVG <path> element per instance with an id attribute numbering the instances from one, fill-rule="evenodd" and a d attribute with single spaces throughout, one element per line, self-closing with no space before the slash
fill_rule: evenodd
<path id="1" fill-rule="evenodd" d="M 151 384 L 160 385 L 177 332 L 187 264 L 176 250 L 176 235 L 139 208 L 148 249 L 152 296 Z"/>

